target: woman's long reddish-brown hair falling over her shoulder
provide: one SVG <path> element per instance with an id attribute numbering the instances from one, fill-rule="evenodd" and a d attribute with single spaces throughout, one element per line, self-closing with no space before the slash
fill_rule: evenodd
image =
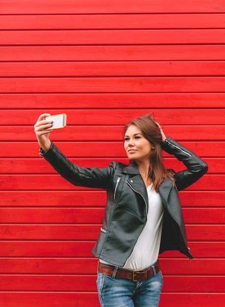
<path id="1" fill-rule="evenodd" d="M 124 127 L 124 135 L 127 129 L 135 125 L 138 127 L 143 136 L 155 146 L 155 148 L 149 154 L 149 177 L 152 179 L 153 186 L 158 192 L 160 184 L 164 181 L 165 178 L 169 177 L 173 180 L 172 171 L 167 170 L 163 163 L 163 154 L 162 154 L 162 134 L 156 120 L 151 114 L 145 114 L 139 118 L 132 120 Z"/>

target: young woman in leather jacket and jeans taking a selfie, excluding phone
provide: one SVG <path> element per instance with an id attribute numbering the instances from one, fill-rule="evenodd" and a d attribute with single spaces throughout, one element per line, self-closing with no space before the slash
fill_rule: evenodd
<path id="1" fill-rule="evenodd" d="M 163 285 L 158 255 L 178 250 L 193 258 L 177 191 L 207 171 L 195 153 L 166 137 L 149 114 L 124 129 L 130 164 L 112 161 L 105 168 L 82 168 L 50 141 L 48 114 L 34 125 L 40 154 L 74 185 L 103 188 L 107 204 L 92 254 L 99 258 L 97 287 L 102 307 L 158 307 Z M 175 173 L 164 167 L 162 150 L 185 165 Z"/>

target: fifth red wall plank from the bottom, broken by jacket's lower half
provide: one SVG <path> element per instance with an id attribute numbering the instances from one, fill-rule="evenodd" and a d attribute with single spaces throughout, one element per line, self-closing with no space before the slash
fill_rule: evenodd
<path id="1" fill-rule="evenodd" d="M 190 241 L 224 241 L 225 225 L 187 225 Z M 101 224 L 1 224 L 1 240 L 97 240 Z M 65 243 L 66 244 L 66 243 Z"/>

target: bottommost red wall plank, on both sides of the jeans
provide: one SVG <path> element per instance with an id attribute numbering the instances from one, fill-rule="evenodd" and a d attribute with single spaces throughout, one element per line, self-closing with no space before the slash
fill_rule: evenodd
<path id="1" fill-rule="evenodd" d="M 225 295 L 223 293 L 162 293 L 159 307 L 174 307 L 176 304 L 186 307 L 224 307 Z M 91 292 L 1 292 L 0 302 L 4 307 L 99 307 L 98 294 Z M 23 302 L 23 305 L 21 303 Z"/>

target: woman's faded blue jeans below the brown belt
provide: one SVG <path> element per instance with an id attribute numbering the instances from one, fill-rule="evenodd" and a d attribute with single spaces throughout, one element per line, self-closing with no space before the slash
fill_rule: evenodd
<path id="1" fill-rule="evenodd" d="M 158 307 L 163 286 L 161 271 L 144 281 L 111 277 L 98 272 L 101 307 Z"/>

